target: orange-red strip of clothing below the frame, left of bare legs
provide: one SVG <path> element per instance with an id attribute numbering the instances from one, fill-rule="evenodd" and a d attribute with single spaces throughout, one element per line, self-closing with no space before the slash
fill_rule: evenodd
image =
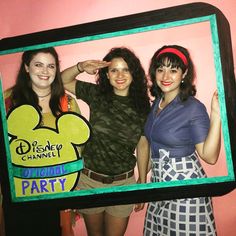
<path id="1" fill-rule="evenodd" d="M 70 211 L 60 211 L 61 236 L 74 236 Z"/>

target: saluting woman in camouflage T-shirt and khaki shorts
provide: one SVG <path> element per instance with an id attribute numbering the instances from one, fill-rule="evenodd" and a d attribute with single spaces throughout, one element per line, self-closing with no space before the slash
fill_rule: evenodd
<path id="1" fill-rule="evenodd" d="M 96 84 L 76 80 L 86 71 Z M 103 61 L 79 62 L 62 72 L 65 88 L 90 107 L 92 138 L 83 150 L 85 168 L 80 189 L 146 182 L 149 146 L 144 123 L 149 112 L 147 80 L 137 56 L 127 48 L 113 48 Z M 134 155 L 136 149 L 136 156 Z M 135 211 L 141 210 L 138 204 Z M 133 204 L 83 209 L 88 235 L 124 235 Z"/>

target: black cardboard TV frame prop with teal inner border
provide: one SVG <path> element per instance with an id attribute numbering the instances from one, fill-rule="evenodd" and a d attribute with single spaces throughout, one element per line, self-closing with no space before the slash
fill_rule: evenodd
<path id="1" fill-rule="evenodd" d="M 89 191 L 71 191 L 44 194 L 36 197 L 17 197 L 11 172 L 11 155 L 7 134 L 4 100 L 1 92 L 0 175 L 5 200 L 15 206 L 44 206 L 89 208 L 104 205 L 127 204 L 186 198 L 219 196 L 235 188 L 236 169 L 236 86 L 233 69 L 230 26 L 221 11 L 206 3 L 192 3 L 150 12 L 101 20 L 65 28 L 47 30 L 27 35 L 5 38 L 0 41 L 0 55 L 30 49 L 59 46 L 136 34 L 139 32 L 209 22 L 211 27 L 217 88 L 219 93 L 222 130 L 228 176 L 183 181 L 147 183 Z"/>

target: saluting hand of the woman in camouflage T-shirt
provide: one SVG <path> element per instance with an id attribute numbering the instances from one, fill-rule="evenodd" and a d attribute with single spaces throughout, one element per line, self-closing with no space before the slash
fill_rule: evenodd
<path id="1" fill-rule="evenodd" d="M 90 75 L 94 75 L 101 68 L 107 67 L 110 65 L 110 62 L 100 61 L 100 60 L 87 60 L 82 61 L 77 64 L 78 70 L 81 72 L 85 71 Z"/>

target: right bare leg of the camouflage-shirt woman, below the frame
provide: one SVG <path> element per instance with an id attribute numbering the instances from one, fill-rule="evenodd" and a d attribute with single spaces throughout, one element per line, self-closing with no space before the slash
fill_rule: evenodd
<path id="1" fill-rule="evenodd" d="M 106 236 L 124 236 L 129 222 L 129 217 L 115 217 L 105 213 Z"/>

